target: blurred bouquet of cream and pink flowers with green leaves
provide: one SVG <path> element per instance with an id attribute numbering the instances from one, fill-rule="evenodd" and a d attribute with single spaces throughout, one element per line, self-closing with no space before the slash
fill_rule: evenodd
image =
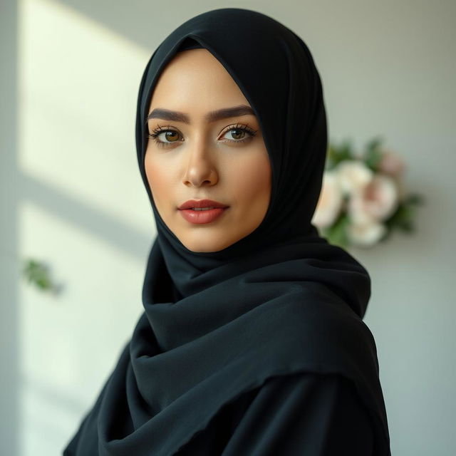
<path id="1" fill-rule="evenodd" d="M 423 197 L 405 192 L 405 163 L 381 143 L 381 138 L 374 138 L 361 154 L 349 141 L 328 147 L 312 223 L 331 244 L 373 247 L 393 229 L 415 229 L 413 209 Z"/>

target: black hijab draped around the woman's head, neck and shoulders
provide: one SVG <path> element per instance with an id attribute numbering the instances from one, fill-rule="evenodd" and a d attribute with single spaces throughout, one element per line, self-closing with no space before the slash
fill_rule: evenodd
<path id="1" fill-rule="evenodd" d="M 194 47 L 211 52 L 244 93 L 272 169 L 263 221 L 219 252 L 192 252 L 177 239 L 145 175 L 152 91 L 173 56 Z M 142 289 L 145 311 L 64 455 L 173 455 L 230 400 L 273 375 L 299 372 L 351 380 L 371 416 L 375 454 L 389 455 L 375 341 L 362 321 L 370 277 L 311 224 L 327 128 L 306 44 L 257 11 L 215 9 L 189 19 L 147 63 L 136 146 L 157 224 Z"/>

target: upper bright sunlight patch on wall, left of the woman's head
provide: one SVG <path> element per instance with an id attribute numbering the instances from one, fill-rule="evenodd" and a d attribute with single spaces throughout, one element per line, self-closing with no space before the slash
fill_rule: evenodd
<path id="1" fill-rule="evenodd" d="M 150 232 L 135 151 L 150 54 L 62 4 L 19 6 L 19 168 Z"/>

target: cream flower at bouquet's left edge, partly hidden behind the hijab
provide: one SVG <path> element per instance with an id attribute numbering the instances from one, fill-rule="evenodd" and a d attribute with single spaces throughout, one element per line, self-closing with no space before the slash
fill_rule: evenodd
<path id="1" fill-rule="evenodd" d="M 341 211 L 342 202 L 343 197 L 336 173 L 325 171 L 312 223 L 321 228 L 331 226 Z"/>

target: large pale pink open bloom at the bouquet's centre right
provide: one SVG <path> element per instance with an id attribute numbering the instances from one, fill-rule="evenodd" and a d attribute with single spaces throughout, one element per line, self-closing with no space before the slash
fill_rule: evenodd
<path id="1" fill-rule="evenodd" d="M 395 180 L 377 174 L 361 192 L 353 194 L 348 201 L 347 211 L 351 220 L 358 224 L 385 220 L 397 209 L 398 196 Z"/>

